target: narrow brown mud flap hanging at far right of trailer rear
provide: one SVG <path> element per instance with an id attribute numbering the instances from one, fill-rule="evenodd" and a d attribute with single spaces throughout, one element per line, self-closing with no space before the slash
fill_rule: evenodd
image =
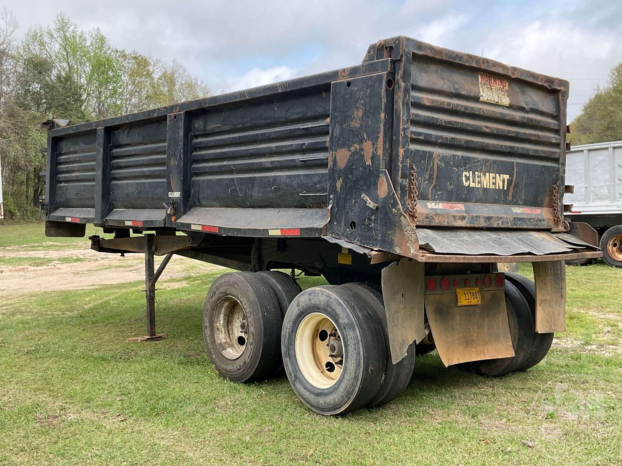
<path id="1" fill-rule="evenodd" d="M 566 331 L 566 265 L 563 260 L 533 262 L 536 281 L 536 333 Z"/>

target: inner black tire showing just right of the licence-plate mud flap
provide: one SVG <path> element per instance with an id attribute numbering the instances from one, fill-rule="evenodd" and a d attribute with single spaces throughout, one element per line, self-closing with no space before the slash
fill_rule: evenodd
<path id="1" fill-rule="evenodd" d="M 506 309 L 508 311 L 509 332 L 514 347 L 514 357 L 485 359 L 457 364 L 468 372 L 486 377 L 500 377 L 518 370 L 527 360 L 534 340 L 534 319 L 527 300 L 511 281 L 505 283 Z"/>

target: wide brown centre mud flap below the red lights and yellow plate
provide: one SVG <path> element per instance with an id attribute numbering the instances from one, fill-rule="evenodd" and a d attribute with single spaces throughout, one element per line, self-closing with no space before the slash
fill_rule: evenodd
<path id="1" fill-rule="evenodd" d="M 472 306 L 458 306 L 453 287 L 426 291 L 425 312 L 445 367 L 514 356 L 503 288 L 481 291 L 481 304 Z"/>

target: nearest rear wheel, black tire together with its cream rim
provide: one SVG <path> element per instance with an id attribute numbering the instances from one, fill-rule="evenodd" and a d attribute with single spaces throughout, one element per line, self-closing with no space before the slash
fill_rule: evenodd
<path id="1" fill-rule="evenodd" d="M 354 411 L 380 389 L 386 361 L 380 322 L 349 288 L 315 286 L 296 296 L 281 345 L 290 385 L 316 413 Z"/>

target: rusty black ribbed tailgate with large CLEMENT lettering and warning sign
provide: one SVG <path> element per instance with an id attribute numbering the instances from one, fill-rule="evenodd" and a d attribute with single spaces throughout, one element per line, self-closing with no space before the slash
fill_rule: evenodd
<path id="1" fill-rule="evenodd" d="M 529 206 L 541 211 L 555 207 L 542 187 L 550 186 L 550 180 L 557 185 L 562 181 L 567 81 L 406 37 L 370 45 L 364 60 L 387 53 L 408 63 L 402 64 L 402 80 L 407 84 L 395 114 L 405 145 L 394 155 L 400 165 L 393 171 L 394 185 L 407 186 L 414 168 L 419 204 L 448 201 Z M 503 99 L 490 99 L 483 93 L 491 88 L 500 89 Z M 406 107 L 408 120 L 404 119 Z M 407 142 L 403 142 L 404 135 Z M 396 191 L 406 202 L 406 190 Z M 560 226 L 554 216 L 548 223 L 527 226 L 516 215 L 521 212 L 493 214 L 488 206 L 474 212 L 474 207 L 466 210 L 478 217 L 462 226 Z M 452 217 L 461 213 L 418 209 L 417 215 L 418 224 L 448 226 L 459 223 Z"/>

